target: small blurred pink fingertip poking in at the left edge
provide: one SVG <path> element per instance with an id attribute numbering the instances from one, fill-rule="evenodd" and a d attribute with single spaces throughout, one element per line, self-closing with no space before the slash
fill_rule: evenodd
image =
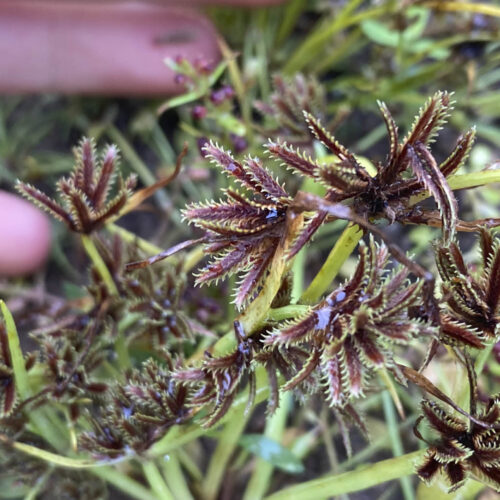
<path id="1" fill-rule="evenodd" d="M 48 218 L 19 196 L 0 191 L 0 276 L 39 269 L 50 252 Z"/>

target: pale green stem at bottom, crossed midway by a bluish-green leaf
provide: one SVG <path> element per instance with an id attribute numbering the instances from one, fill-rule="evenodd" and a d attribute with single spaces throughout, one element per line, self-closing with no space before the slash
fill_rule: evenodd
<path id="1" fill-rule="evenodd" d="M 281 442 L 285 430 L 286 419 L 290 408 L 292 393 L 286 392 L 280 395 L 280 405 L 276 412 L 266 422 L 264 436 Z M 257 459 L 252 476 L 248 481 L 243 500 L 260 500 L 266 494 L 271 482 L 273 465 L 262 458 Z"/>

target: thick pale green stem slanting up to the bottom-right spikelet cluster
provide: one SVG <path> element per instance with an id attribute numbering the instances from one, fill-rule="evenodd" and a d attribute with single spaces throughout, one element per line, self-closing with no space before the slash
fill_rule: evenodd
<path id="1" fill-rule="evenodd" d="M 362 469 L 326 476 L 291 486 L 266 497 L 266 500 L 320 500 L 343 493 L 361 491 L 377 484 L 413 474 L 415 461 L 425 450 L 382 460 Z"/>

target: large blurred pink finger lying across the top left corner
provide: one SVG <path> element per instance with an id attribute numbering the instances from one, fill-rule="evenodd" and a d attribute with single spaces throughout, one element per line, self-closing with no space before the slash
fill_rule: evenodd
<path id="1" fill-rule="evenodd" d="M 217 61 L 213 25 L 189 8 L 140 2 L 0 2 L 0 93 L 166 95 L 165 58 Z"/>

